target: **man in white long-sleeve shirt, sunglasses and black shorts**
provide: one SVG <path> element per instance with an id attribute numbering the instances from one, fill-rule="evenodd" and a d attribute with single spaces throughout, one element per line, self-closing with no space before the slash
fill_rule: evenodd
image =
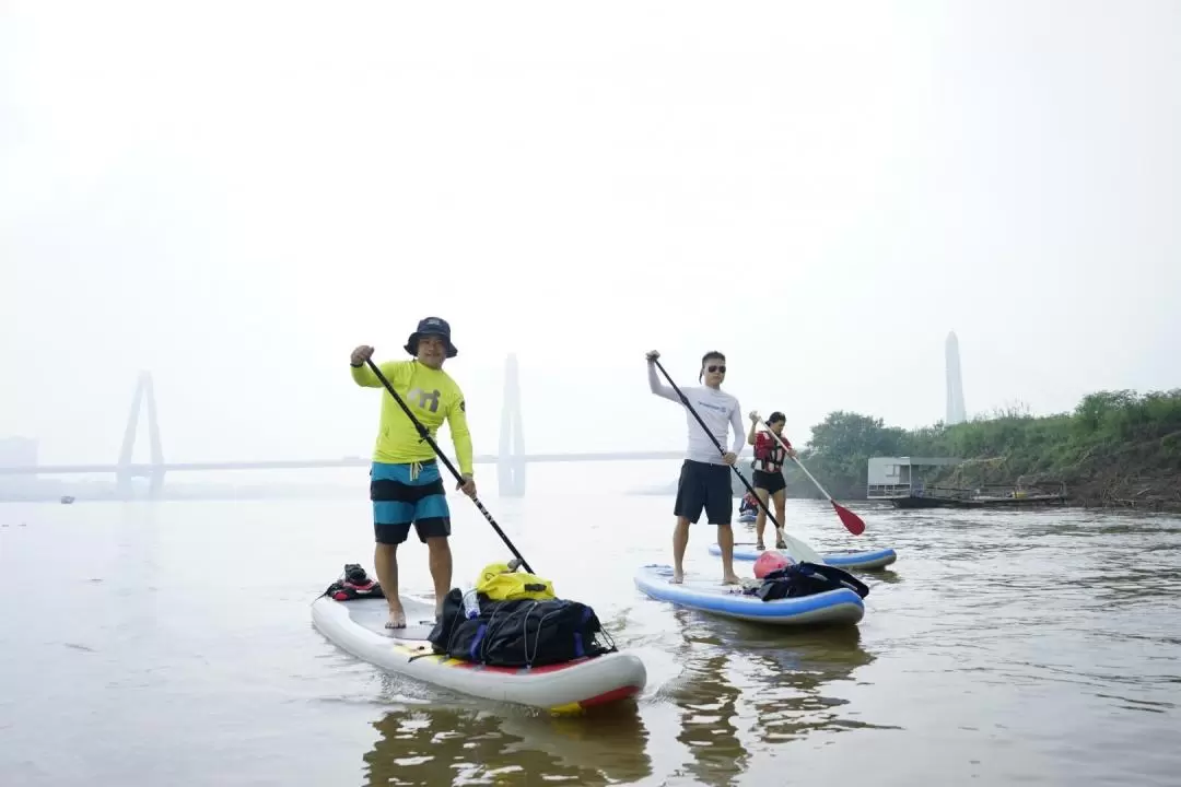
<path id="1" fill-rule="evenodd" d="M 655 360 L 660 353 L 652 350 L 648 358 L 648 387 L 652 393 L 674 401 L 684 407 L 677 392 L 660 383 L 657 378 Z M 705 510 L 706 520 L 718 526 L 718 546 L 722 547 L 722 582 L 738 584 L 735 573 L 733 547 L 735 533 L 730 526 L 733 514 L 733 493 L 730 486 L 730 466 L 738 460 L 738 454 L 746 439 L 742 425 L 738 400 L 722 391 L 722 380 L 726 376 L 726 356 L 710 352 L 702 356 L 702 372 L 698 381 L 705 385 L 696 388 L 681 388 L 685 399 L 693 411 L 709 427 L 710 433 L 702 431 L 693 413 L 685 408 L 685 420 L 689 424 L 689 448 L 685 461 L 680 466 L 680 480 L 677 483 L 677 503 L 673 514 L 677 517 L 677 529 L 672 534 L 673 583 L 685 578 L 681 563 L 685 559 L 685 547 L 689 545 L 689 523 L 696 523 Z M 725 454 L 718 451 L 718 445 L 725 445 L 727 429 L 733 429 L 732 447 Z M 710 438 L 713 435 L 713 439 Z M 715 445 L 717 440 L 717 445 Z"/>

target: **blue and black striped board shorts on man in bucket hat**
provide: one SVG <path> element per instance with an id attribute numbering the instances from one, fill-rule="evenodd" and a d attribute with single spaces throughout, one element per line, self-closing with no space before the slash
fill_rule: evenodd
<path id="1" fill-rule="evenodd" d="M 370 468 L 370 500 L 378 544 L 400 544 L 410 536 L 410 525 L 424 544 L 428 538 L 451 534 L 451 510 L 435 459 L 410 465 L 374 461 Z"/>

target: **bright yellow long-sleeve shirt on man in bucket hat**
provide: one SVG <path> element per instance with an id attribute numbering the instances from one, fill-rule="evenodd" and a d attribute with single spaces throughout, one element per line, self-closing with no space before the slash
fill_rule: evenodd
<path id="1" fill-rule="evenodd" d="M 385 388 L 368 363 L 350 368 L 357 385 L 366 388 Z M 459 472 L 471 473 L 471 433 L 468 431 L 466 405 L 463 392 L 451 375 L 443 369 L 424 366 L 417 360 L 390 361 L 379 363 L 378 368 L 406 402 L 415 418 L 426 427 L 432 439 L 443 425 L 443 420 L 446 420 Z M 406 418 L 406 413 L 386 391 L 381 396 L 381 426 L 373 448 L 373 461 L 405 465 L 433 458 L 435 452 L 418 437 L 413 421 Z"/>

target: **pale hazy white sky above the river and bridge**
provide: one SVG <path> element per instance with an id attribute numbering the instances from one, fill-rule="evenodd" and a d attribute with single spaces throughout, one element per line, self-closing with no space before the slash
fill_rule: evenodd
<path id="1" fill-rule="evenodd" d="M 367 454 L 448 319 L 476 451 L 684 446 L 726 353 L 797 441 L 1181 385 L 1181 5 L 0 2 L 0 435 Z M 450 444 L 446 442 L 449 450 Z M 146 458 L 146 440 L 138 450 Z"/>

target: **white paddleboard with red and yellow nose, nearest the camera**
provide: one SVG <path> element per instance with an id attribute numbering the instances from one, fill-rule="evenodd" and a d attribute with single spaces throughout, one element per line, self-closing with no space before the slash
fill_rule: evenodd
<path id="1" fill-rule="evenodd" d="M 559 715 L 632 697 L 647 682 L 644 662 L 618 651 L 520 669 L 450 658 L 433 652 L 428 640 L 435 628 L 435 604 L 406 596 L 402 604 L 406 610 L 405 629 L 385 628 L 389 608 L 384 598 L 338 602 L 321 596 L 312 603 L 312 623 L 337 647 L 390 673 Z"/>

